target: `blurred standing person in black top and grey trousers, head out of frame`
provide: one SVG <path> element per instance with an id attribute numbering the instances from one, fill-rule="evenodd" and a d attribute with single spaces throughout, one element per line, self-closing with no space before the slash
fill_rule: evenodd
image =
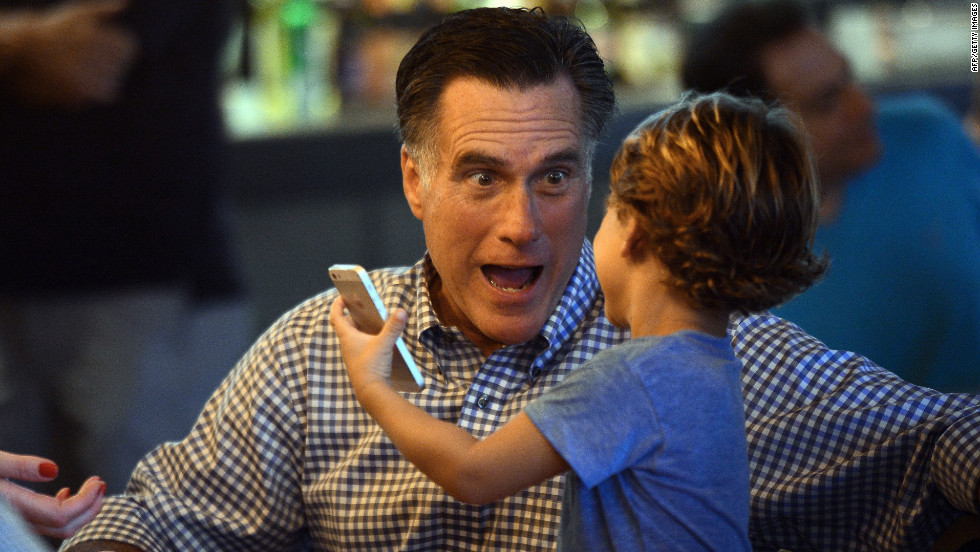
<path id="1" fill-rule="evenodd" d="M 121 491 L 249 339 L 221 218 L 231 10 L 0 0 L 0 446 L 67 485 Z"/>

